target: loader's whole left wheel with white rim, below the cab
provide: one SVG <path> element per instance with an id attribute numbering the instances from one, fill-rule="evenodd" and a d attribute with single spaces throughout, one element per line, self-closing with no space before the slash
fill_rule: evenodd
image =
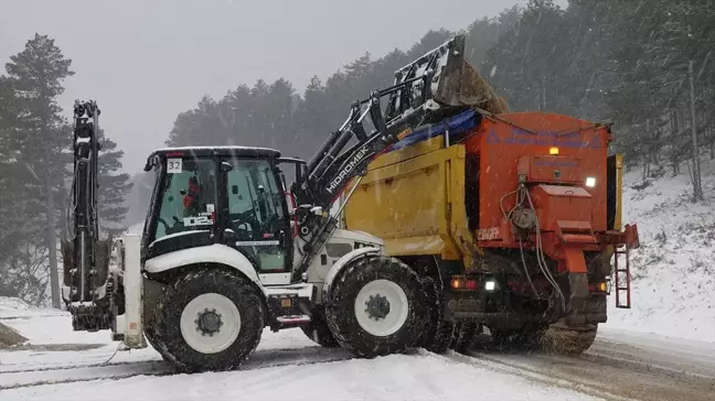
<path id="1" fill-rule="evenodd" d="M 258 346 L 264 316 L 262 294 L 248 279 L 201 269 L 163 289 L 153 337 L 181 370 L 235 369 Z"/>

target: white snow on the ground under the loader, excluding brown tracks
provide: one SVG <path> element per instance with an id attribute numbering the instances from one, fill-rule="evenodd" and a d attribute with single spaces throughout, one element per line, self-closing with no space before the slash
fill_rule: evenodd
<path id="1" fill-rule="evenodd" d="M 8 300 L 0 300 L 0 311 Z M 7 311 L 6 311 L 7 312 Z M 109 334 L 72 332 L 67 314 L 43 316 L 30 311 L 28 317 L 15 315 L 3 323 L 19 329 L 36 346 L 33 350 L 0 351 L 0 389 L 53 380 L 53 375 L 77 378 L 98 369 L 117 349 Z M 79 350 L 54 350 L 62 340 Z M 96 348 L 82 349 L 78 345 Z M 50 348 L 43 349 L 42 345 Z M 26 348 L 28 346 L 25 346 Z M 271 351 L 275 350 L 275 351 Z M 281 358 L 281 355 L 288 357 Z M 333 358 L 324 357 L 333 355 Z M 90 400 L 205 400 L 205 399 L 284 399 L 291 400 L 461 400 L 479 393 L 480 399 L 502 400 L 596 400 L 588 395 L 530 381 L 520 376 L 495 372 L 479 364 L 468 364 L 423 351 L 365 359 L 346 359 L 342 350 L 317 347 L 299 329 L 264 333 L 254 357 L 242 371 L 136 376 L 119 380 L 88 380 L 73 383 L 28 386 L 0 390 L 0 399 L 73 400 L 77 393 Z M 333 361 L 331 361 L 333 360 Z M 108 362 L 121 367 L 129 361 L 161 361 L 151 347 L 119 351 Z M 280 364 L 284 362 L 284 364 Z M 308 364 L 306 364 L 308 362 Z M 296 365 L 305 364 L 305 365 Z M 90 365 L 87 367 L 87 365 Z M 92 366 L 94 365 L 94 366 Z M 279 365 L 279 366 L 275 366 Z M 67 367 L 83 370 L 70 370 Z M 63 368 L 54 371 L 20 370 Z M 6 375 L 2 375 L 2 373 Z M 94 377 L 92 377 L 94 378 Z"/>

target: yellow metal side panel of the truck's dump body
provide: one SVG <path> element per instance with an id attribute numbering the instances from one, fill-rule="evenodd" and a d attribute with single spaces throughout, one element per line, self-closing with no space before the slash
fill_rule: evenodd
<path id="1" fill-rule="evenodd" d="M 385 240 L 395 256 L 462 258 L 452 232 L 471 242 L 463 195 L 465 147 L 419 142 L 380 156 L 344 209 L 349 229 Z"/>

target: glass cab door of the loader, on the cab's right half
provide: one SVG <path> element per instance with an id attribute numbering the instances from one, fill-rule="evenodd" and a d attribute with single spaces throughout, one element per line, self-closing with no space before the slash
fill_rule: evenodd
<path id="1" fill-rule="evenodd" d="M 226 245 L 252 261 L 264 285 L 290 283 L 292 241 L 276 167 L 265 159 L 225 158 Z M 224 170 L 224 171 L 225 171 Z"/>

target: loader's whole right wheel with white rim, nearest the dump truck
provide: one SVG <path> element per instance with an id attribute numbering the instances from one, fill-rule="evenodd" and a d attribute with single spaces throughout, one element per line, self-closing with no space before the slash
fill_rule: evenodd
<path id="1" fill-rule="evenodd" d="M 328 326 L 341 347 L 372 358 L 417 346 L 425 299 L 419 278 L 402 261 L 366 256 L 335 277 L 328 294 Z"/>

